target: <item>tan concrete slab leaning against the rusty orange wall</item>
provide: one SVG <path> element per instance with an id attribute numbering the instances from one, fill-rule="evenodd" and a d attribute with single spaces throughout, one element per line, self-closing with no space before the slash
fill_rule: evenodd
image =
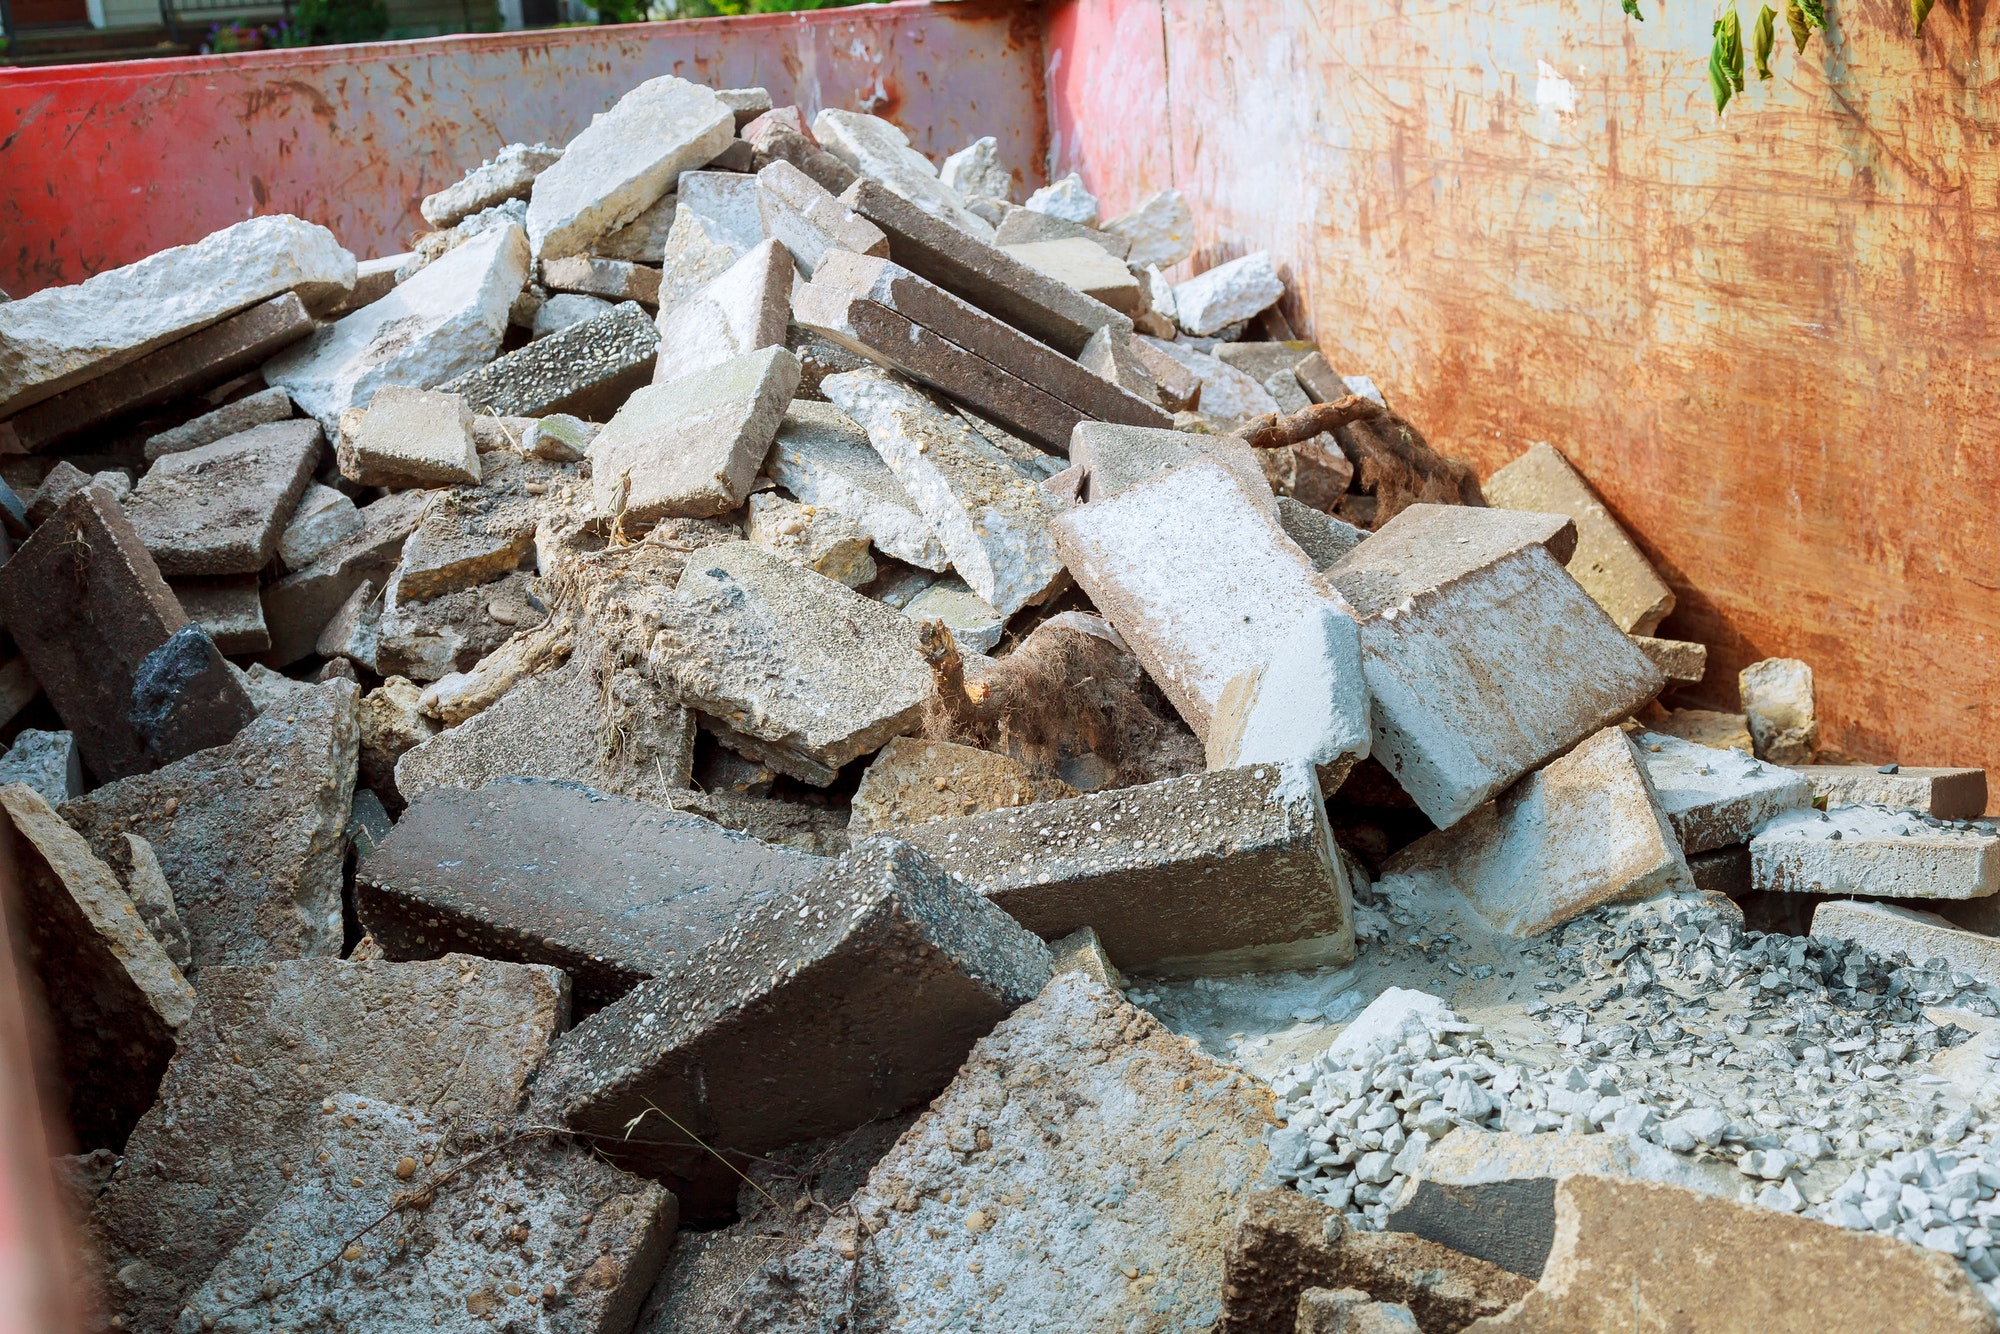
<path id="1" fill-rule="evenodd" d="M 1626 634 L 1652 634 L 1672 614 L 1674 590 L 1610 516 L 1590 482 L 1554 446 L 1528 446 L 1526 454 L 1486 478 L 1480 492 L 1486 504 L 1502 510 L 1568 514 L 1576 520 L 1570 578 Z"/>

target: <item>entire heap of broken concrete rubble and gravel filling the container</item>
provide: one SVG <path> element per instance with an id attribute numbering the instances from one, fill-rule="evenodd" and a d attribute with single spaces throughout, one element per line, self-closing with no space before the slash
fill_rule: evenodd
<path id="1" fill-rule="evenodd" d="M 656 78 L 0 304 L 98 1328 L 1994 1330 L 1984 772 L 1026 166 Z"/>

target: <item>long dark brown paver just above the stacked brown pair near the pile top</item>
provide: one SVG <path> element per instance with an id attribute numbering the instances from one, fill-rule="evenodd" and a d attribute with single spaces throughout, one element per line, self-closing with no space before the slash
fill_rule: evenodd
<path id="1" fill-rule="evenodd" d="M 1080 354 L 1100 328 L 1132 330 L 1130 316 L 932 218 L 876 180 L 854 182 L 840 202 L 882 228 L 896 264 L 1064 356 Z"/>

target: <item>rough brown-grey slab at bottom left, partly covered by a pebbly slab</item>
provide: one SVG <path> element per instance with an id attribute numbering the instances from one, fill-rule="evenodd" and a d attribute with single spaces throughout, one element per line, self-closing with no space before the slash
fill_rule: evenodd
<path id="1" fill-rule="evenodd" d="M 202 970 L 160 1100 L 92 1216 L 114 1276 L 108 1314 L 128 1330 L 176 1328 L 186 1298 L 312 1162 L 332 1098 L 430 1108 L 470 1132 L 520 1106 L 566 1022 L 558 970 L 464 954 Z"/>

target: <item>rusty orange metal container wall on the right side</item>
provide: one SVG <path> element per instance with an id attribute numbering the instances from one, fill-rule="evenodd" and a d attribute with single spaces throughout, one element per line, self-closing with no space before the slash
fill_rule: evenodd
<path id="1" fill-rule="evenodd" d="M 1178 186 L 1198 262 L 1272 250 L 1328 356 L 1482 474 L 1560 446 L 1712 702 L 1798 656 L 1832 744 L 1992 764 L 2000 28 L 1832 0 L 1716 122 L 1710 8 L 1642 4 L 1076 0 L 1052 170 Z M 1150 62 L 1104 42 L 1148 24 Z"/>

